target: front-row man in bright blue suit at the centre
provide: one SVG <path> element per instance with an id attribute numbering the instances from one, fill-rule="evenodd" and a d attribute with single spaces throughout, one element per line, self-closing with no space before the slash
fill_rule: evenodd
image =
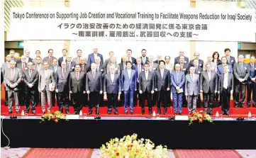
<path id="1" fill-rule="evenodd" d="M 126 62 L 126 69 L 123 70 L 121 76 L 122 91 L 124 91 L 124 108 L 125 114 L 128 114 L 128 103 L 130 101 L 130 114 L 133 115 L 133 96 L 137 89 L 137 77 L 134 69 L 132 68 L 132 62 Z"/>

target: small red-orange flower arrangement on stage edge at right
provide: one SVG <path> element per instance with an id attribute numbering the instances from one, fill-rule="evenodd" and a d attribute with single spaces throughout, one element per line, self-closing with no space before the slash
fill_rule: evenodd
<path id="1" fill-rule="evenodd" d="M 204 111 L 196 111 L 195 113 L 192 113 L 189 115 L 189 125 L 192 123 L 197 122 L 197 123 L 203 123 L 203 122 L 209 122 L 213 123 L 211 120 L 211 116 L 205 113 Z"/>

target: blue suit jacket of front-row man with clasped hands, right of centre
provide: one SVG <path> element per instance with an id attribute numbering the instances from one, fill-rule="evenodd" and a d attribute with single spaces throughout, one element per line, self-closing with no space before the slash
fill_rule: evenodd
<path id="1" fill-rule="evenodd" d="M 176 87 L 179 86 L 180 89 L 184 91 L 184 84 L 185 84 L 185 73 L 179 71 L 179 81 L 177 81 L 177 72 L 173 71 L 171 74 L 171 83 L 172 83 L 172 93 L 177 93 Z"/>

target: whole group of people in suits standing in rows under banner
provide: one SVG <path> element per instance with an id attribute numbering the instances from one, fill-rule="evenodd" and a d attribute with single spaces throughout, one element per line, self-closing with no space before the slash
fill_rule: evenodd
<path id="1" fill-rule="evenodd" d="M 116 64 L 116 57 L 109 52 L 109 58 L 103 62 L 103 56 L 94 48 L 88 59 L 82 57 L 82 50 L 77 50 L 77 57 L 72 60 L 67 50 L 62 50 L 62 57 L 58 60 L 53 57 L 53 50 L 48 50 L 48 57 L 43 60 L 40 51 L 35 52 L 35 59 L 29 57 L 26 50 L 21 60 L 13 57 L 14 51 L 6 56 L 6 62 L 1 67 L 6 87 L 6 101 L 9 113 L 12 113 L 12 98 L 15 98 L 16 112 L 19 113 L 20 105 L 26 105 L 29 111 L 31 99 L 32 113 L 35 106 L 41 102 L 42 111 L 45 113 L 45 102 L 48 101 L 48 111 L 55 105 L 55 97 L 60 111 L 65 107 L 69 113 L 69 94 L 74 106 L 74 113 L 79 113 L 82 106 L 91 101 L 89 114 L 95 106 L 95 113 L 99 114 L 99 105 L 103 98 L 108 99 L 108 114 L 113 111 L 118 115 L 118 96 L 124 100 L 125 113 L 133 114 L 133 106 L 139 101 L 141 113 L 145 113 L 145 100 L 148 100 L 149 113 L 152 106 L 157 104 L 157 113 L 167 114 L 170 106 L 170 94 L 173 96 L 174 114 L 182 115 L 182 106 L 187 104 L 189 112 L 200 107 L 200 94 L 204 98 L 204 111 L 212 115 L 213 100 L 220 94 L 220 105 L 223 114 L 229 114 L 230 94 L 235 92 L 235 107 L 244 107 L 245 87 L 247 85 L 247 107 L 256 107 L 255 57 L 252 56 L 250 64 L 243 62 L 243 55 L 239 55 L 238 62 L 230 56 L 230 50 L 225 50 L 226 56 L 221 62 L 213 62 L 213 57 L 208 56 L 207 62 L 199 59 L 199 53 L 194 53 L 194 59 L 189 61 L 184 56 L 184 51 L 179 51 L 179 57 L 170 64 L 170 57 L 162 60 L 162 55 L 157 55 L 157 60 L 152 56 L 147 57 L 145 49 L 141 57 L 132 57 L 132 50 L 126 51 L 120 64 Z M 14 66 L 13 66 L 14 64 Z M 11 71 L 9 71 L 9 69 Z M 12 71 L 14 72 L 13 74 Z M 19 91 L 26 93 L 19 93 Z M 39 96 L 39 97 L 38 97 Z M 216 97 L 217 96 L 217 97 Z M 22 103 L 25 102 L 25 103 Z"/>

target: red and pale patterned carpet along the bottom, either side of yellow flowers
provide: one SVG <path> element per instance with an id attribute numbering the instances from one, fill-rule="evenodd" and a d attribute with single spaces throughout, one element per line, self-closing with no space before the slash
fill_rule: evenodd
<path id="1" fill-rule="evenodd" d="M 169 158 L 255 158 L 256 149 L 169 149 Z M 207 155 L 207 156 L 206 156 Z M 1 158 L 100 158 L 99 149 L 1 148 Z"/>

